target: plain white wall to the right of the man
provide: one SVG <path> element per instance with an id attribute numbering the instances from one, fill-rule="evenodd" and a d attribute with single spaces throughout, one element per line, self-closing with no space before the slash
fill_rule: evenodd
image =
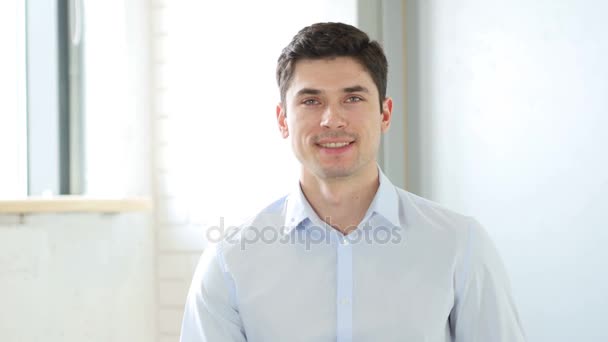
<path id="1" fill-rule="evenodd" d="M 407 3 L 410 190 L 474 215 L 530 341 L 606 341 L 608 2 Z"/>

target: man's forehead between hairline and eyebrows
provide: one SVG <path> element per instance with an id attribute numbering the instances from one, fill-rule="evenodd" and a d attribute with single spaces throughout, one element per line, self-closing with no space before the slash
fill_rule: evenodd
<path id="1" fill-rule="evenodd" d="M 369 72 L 352 57 L 302 59 L 295 64 L 287 94 L 295 94 L 302 88 L 330 92 L 357 85 L 377 93 Z"/>

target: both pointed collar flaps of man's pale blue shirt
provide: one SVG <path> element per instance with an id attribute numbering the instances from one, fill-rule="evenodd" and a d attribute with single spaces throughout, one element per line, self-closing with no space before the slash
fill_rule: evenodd
<path id="1" fill-rule="evenodd" d="M 365 214 L 364 221 L 369 220 L 373 214 L 378 214 L 395 226 L 400 226 L 399 221 L 399 197 L 397 189 L 391 181 L 384 175 L 378 167 L 378 178 L 380 184 L 372 203 Z M 285 226 L 284 231 L 289 234 L 294 228 L 298 227 L 304 220 L 314 220 L 317 214 L 312 209 L 310 203 L 304 196 L 300 183 L 287 196 L 285 206 Z"/>

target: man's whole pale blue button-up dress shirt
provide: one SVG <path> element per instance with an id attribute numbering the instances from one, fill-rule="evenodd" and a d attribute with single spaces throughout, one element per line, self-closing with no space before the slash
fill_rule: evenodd
<path id="1" fill-rule="evenodd" d="M 299 186 L 224 233 L 195 272 L 181 342 L 525 340 L 484 229 L 382 172 L 347 236 Z"/>

